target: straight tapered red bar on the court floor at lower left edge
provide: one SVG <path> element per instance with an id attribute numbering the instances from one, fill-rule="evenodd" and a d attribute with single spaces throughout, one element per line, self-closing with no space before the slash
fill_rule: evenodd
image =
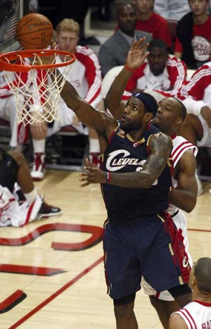
<path id="1" fill-rule="evenodd" d="M 0 272 L 50 276 L 50 275 L 64 273 L 66 271 L 63 271 L 60 268 L 48 268 L 48 267 L 40 267 L 40 266 L 37 267 L 37 266 L 24 266 L 24 265 L 0 263 Z"/>

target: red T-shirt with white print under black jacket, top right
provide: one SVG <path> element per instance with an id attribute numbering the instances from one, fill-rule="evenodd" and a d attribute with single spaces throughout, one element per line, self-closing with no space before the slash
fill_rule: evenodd
<path id="1" fill-rule="evenodd" d="M 193 24 L 193 33 L 191 45 L 193 47 L 193 54 L 196 61 L 205 62 L 211 61 L 211 17 L 208 16 L 204 24 Z M 179 39 L 176 38 L 174 51 L 182 53 L 183 47 Z"/>

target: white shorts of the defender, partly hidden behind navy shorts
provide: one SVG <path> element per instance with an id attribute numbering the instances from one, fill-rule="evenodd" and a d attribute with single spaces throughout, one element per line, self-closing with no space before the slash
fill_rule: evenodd
<path id="1" fill-rule="evenodd" d="M 188 253 L 188 232 L 186 225 L 186 216 L 179 209 L 177 215 L 175 215 L 172 219 L 174 221 L 174 224 L 177 226 L 177 230 L 181 230 L 181 235 L 184 237 L 186 254 L 188 255 L 188 263 L 190 263 L 190 265 L 193 266 L 191 255 Z M 151 285 L 149 285 L 143 277 L 141 278 L 141 287 L 143 287 L 144 293 L 148 294 L 148 296 L 153 295 L 155 297 L 158 297 L 158 299 L 162 299 L 165 301 L 174 301 L 174 297 L 172 297 L 170 292 L 168 292 L 167 290 L 163 292 L 156 292 L 156 290 L 154 290 L 153 287 L 151 287 Z"/>

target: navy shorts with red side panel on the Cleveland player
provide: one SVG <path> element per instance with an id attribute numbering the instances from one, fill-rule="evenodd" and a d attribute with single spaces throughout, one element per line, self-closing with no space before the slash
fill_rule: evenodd
<path id="1" fill-rule="evenodd" d="M 148 216 L 137 225 L 105 223 L 104 263 L 108 294 L 120 299 L 141 289 L 141 277 L 156 290 L 188 283 L 184 245 L 170 215 Z"/>

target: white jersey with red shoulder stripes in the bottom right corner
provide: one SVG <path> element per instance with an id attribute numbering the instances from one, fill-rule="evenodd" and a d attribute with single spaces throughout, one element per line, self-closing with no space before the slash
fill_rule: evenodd
<path id="1" fill-rule="evenodd" d="M 194 300 L 174 313 L 179 314 L 184 319 L 188 329 L 211 328 L 211 303 Z"/>

